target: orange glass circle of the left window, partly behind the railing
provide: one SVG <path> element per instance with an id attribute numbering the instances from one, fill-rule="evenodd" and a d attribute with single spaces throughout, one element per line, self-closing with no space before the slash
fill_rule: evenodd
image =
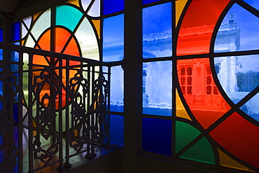
<path id="1" fill-rule="evenodd" d="M 71 36 L 71 34 L 66 31 L 66 29 L 63 28 L 59 28 L 56 27 L 55 28 L 55 44 L 54 44 L 54 50 L 57 53 L 64 53 L 64 54 L 68 54 L 68 55 L 74 55 L 74 56 L 80 56 L 80 52 L 79 52 L 79 48 L 78 45 L 76 43 L 76 40 L 74 39 L 74 37 L 71 37 L 71 39 L 69 39 L 69 37 Z M 66 46 L 66 48 L 64 48 L 64 46 Z M 41 48 L 42 50 L 48 50 L 50 51 L 50 29 L 45 32 L 40 39 L 38 40 L 38 46 L 35 46 L 35 48 L 39 49 Z M 50 60 L 50 57 L 43 57 L 40 55 L 34 55 L 33 57 L 33 64 L 41 64 L 41 65 L 46 65 L 46 66 L 55 66 L 58 67 L 59 66 L 59 62 L 55 57 L 52 57 L 52 60 Z M 63 60 L 62 62 L 62 66 L 65 66 L 66 64 L 66 60 Z M 80 62 L 76 62 L 76 61 L 69 61 L 69 65 L 70 67 L 73 65 L 78 65 L 80 64 Z M 35 69 L 40 69 L 39 67 L 34 67 Z M 55 71 L 52 71 L 54 73 L 54 76 L 58 77 L 59 75 L 59 70 L 55 69 Z M 69 78 L 72 78 L 75 74 L 76 74 L 76 70 L 71 70 L 69 71 Z M 33 76 L 38 76 L 40 75 L 41 71 L 34 71 Z M 66 70 L 63 69 L 62 70 L 62 83 L 64 85 L 64 87 L 66 87 Z M 39 81 L 40 82 L 40 81 Z M 41 90 L 41 94 L 40 94 L 40 101 L 43 98 L 43 96 L 45 94 L 50 95 L 50 88 L 51 86 L 48 84 L 45 84 Z M 62 106 L 65 106 L 66 103 L 66 97 L 65 97 L 65 90 L 64 88 L 62 88 Z M 59 107 L 59 95 L 56 96 L 56 101 L 55 101 L 55 106 L 56 108 Z M 48 105 L 49 103 L 48 99 L 45 99 L 44 104 Z"/>

